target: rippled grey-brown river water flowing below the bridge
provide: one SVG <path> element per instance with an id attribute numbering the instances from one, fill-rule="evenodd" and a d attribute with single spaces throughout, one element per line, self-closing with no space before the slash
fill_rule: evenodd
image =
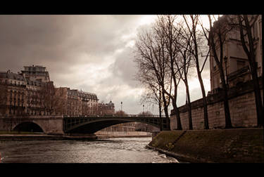
<path id="1" fill-rule="evenodd" d="M 146 138 L 0 140 L 1 163 L 177 163 Z"/>

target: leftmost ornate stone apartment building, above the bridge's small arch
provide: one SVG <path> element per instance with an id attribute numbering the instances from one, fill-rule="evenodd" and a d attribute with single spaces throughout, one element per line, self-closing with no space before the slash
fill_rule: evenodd
<path id="1" fill-rule="evenodd" d="M 43 90 L 53 82 L 32 81 L 21 74 L 8 70 L 0 72 L 0 114 L 3 115 L 43 115 L 45 109 Z"/>

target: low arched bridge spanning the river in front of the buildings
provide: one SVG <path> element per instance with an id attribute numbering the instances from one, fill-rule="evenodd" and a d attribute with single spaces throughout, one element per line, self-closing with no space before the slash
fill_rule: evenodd
<path id="1" fill-rule="evenodd" d="M 46 134 L 95 133 L 115 124 L 142 122 L 163 130 L 170 122 L 158 115 L 104 115 L 104 116 L 1 116 L 0 131 L 37 131 Z"/>

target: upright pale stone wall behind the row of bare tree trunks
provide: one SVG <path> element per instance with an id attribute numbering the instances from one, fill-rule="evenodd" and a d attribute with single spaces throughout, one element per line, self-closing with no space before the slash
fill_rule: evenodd
<path id="1" fill-rule="evenodd" d="M 260 84 L 261 85 L 261 84 Z M 261 90 L 261 94 L 263 91 Z M 230 89 L 228 93 L 230 116 L 234 127 L 257 126 L 256 103 L 253 93 L 252 81 Z M 207 96 L 209 129 L 225 127 L 225 111 L 221 92 Z M 195 100 L 191 103 L 191 117 L 193 129 L 203 129 L 203 100 Z M 182 129 L 189 129 L 187 106 L 179 107 Z M 170 115 L 170 129 L 177 129 L 177 121 L 174 110 Z"/>

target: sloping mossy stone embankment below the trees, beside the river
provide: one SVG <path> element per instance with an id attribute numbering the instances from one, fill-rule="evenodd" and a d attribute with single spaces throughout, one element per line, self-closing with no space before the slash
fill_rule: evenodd
<path id="1" fill-rule="evenodd" d="M 264 162 L 263 129 L 161 131 L 149 147 L 182 162 Z"/>

